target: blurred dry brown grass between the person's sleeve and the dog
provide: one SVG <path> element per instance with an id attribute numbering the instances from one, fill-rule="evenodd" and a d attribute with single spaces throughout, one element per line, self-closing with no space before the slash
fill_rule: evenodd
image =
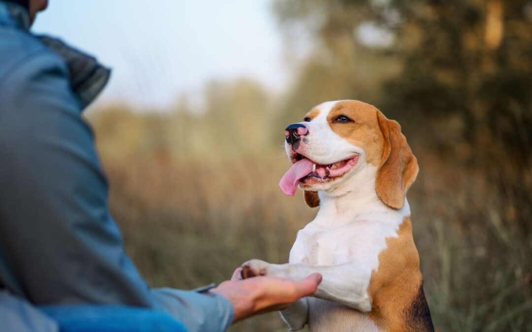
<path id="1" fill-rule="evenodd" d="M 278 189 L 285 164 L 278 157 L 107 163 L 112 213 L 148 283 L 195 288 L 227 279 L 251 258 L 286 262 L 296 232 L 315 210 L 301 193 L 287 198 Z M 284 323 L 271 313 L 232 329 L 275 331 Z"/>

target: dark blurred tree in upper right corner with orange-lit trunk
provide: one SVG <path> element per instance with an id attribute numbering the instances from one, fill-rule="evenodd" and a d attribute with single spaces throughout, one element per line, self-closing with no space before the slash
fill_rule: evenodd
<path id="1" fill-rule="evenodd" d="M 404 63 L 388 84 L 391 101 L 423 117 L 460 115 L 464 139 L 483 148 L 477 152 L 510 150 L 528 164 L 532 3 L 394 0 L 386 7 L 400 13 L 394 32 Z"/>

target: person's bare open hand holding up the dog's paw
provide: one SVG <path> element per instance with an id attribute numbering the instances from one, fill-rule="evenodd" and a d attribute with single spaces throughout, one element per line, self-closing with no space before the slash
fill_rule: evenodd
<path id="1" fill-rule="evenodd" d="M 221 283 L 210 292 L 217 293 L 231 302 L 235 316 L 233 321 L 256 313 L 282 310 L 301 297 L 314 294 L 321 283 L 319 273 L 311 274 L 300 282 L 276 278 L 253 277 L 242 280 L 242 268 L 233 273 L 231 280 Z"/>

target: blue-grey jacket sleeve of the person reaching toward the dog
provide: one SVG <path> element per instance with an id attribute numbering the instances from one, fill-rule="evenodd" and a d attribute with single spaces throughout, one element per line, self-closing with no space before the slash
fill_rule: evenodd
<path id="1" fill-rule="evenodd" d="M 190 331 L 220 331 L 219 295 L 150 290 L 123 251 L 107 182 L 68 71 L 51 52 L 0 80 L 0 280 L 35 304 L 154 308 Z"/>

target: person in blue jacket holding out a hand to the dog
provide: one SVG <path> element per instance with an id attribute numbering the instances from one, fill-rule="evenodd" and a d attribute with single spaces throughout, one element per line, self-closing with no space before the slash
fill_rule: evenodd
<path id="1" fill-rule="evenodd" d="M 300 282 L 239 280 L 238 269 L 209 290 L 146 285 L 124 253 L 93 135 L 81 117 L 109 70 L 60 40 L 29 32 L 46 6 L 0 0 L 1 328 L 68 331 L 62 319 L 125 317 L 139 330 L 146 321 L 171 320 L 181 330 L 221 331 L 313 294 L 318 274 Z M 79 331 L 79 320 L 75 325 Z"/>

